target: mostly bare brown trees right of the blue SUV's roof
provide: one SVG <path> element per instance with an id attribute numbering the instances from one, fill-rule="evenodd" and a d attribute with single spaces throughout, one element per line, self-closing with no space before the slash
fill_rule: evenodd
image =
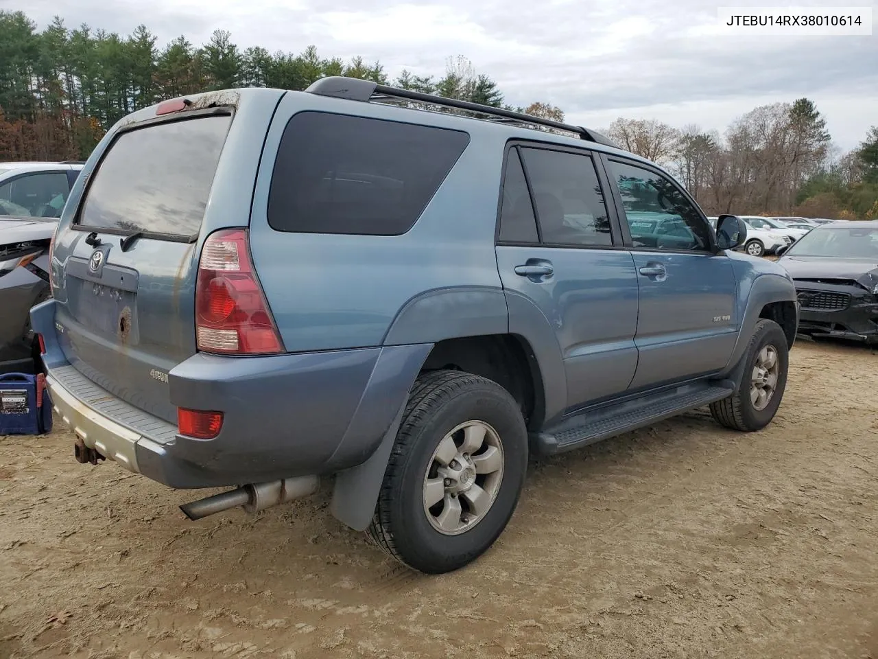
<path id="1" fill-rule="evenodd" d="M 669 167 L 709 214 L 878 219 L 878 127 L 842 154 L 808 98 L 759 106 L 723 135 L 645 119 L 616 119 L 607 134 Z"/>

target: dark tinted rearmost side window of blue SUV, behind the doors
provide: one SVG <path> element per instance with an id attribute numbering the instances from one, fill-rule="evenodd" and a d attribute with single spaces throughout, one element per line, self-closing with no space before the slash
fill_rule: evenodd
<path id="1" fill-rule="evenodd" d="M 277 151 L 269 224 L 297 233 L 404 234 L 469 141 L 445 128 L 299 112 Z"/>

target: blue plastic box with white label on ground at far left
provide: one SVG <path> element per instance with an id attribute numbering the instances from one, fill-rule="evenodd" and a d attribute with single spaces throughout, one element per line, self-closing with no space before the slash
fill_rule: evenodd
<path id="1" fill-rule="evenodd" d="M 0 375 L 0 435 L 41 435 L 52 431 L 52 402 L 46 376 Z"/>

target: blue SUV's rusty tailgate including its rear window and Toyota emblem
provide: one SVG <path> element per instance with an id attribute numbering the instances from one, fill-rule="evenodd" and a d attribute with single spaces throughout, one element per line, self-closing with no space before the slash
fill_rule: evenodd
<path id="1" fill-rule="evenodd" d="M 196 248 L 231 122 L 214 112 L 119 132 L 54 246 L 65 356 L 170 422 L 168 373 L 196 351 Z"/>

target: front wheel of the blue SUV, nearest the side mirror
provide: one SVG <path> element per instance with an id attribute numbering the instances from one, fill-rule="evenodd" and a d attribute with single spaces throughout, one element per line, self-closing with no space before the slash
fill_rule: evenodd
<path id="1" fill-rule="evenodd" d="M 767 401 L 758 398 L 756 402 L 752 398 L 754 372 L 758 362 L 765 364 L 765 356 L 774 351 L 777 360 L 774 389 Z M 760 320 L 753 328 L 750 343 L 744 353 L 745 366 L 738 382 L 737 393 L 723 398 L 722 401 L 710 404 L 710 414 L 719 424 L 736 431 L 752 432 L 765 428 L 770 424 L 777 409 L 781 405 L 783 393 L 787 388 L 787 373 L 789 368 L 789 349 L 787 336 L 781 326 L 774 321 Z M 769 369 L 769 375 L 771 370 Z M 764 383 L 770 382 L 765 378 Z M 759 382 L 756 383 L 757 388 Z M 763 389 L 764 390 L 764 389 Z M 760 407 L 764 402 L 764 407 Z"/>

